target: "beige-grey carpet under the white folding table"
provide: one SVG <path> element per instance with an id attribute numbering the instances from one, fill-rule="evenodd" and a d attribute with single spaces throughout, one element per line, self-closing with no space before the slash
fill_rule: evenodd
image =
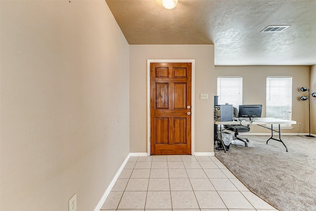
<path id="1" fill-rule="evenodd" d="M 231 145 L 215 156 L 257 196 L 279 211 L 316 211 L 316 138 L 249 135 L 250 147 Z"/>

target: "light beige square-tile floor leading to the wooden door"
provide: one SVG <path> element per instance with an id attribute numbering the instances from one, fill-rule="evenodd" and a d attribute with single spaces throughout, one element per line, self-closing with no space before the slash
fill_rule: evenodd
<path id="1" fill-rule="evenodd" d="M 101 210 L 276 211 L 215 156 L 130 157 Z"/>

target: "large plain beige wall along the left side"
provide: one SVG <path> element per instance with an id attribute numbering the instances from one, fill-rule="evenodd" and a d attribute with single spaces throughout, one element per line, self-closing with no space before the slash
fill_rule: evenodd
<path id="1" fill-rule="evenodd" d="M 1 211 L 92 211 L 129 153 L 128 43 L 104 0 L 1 0 Z"/>

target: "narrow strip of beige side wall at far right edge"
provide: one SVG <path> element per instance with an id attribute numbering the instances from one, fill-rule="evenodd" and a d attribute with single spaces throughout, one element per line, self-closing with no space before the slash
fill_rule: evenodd
<path id="1" fill-rule="evenodd" d="M 311 93 L 316 92 L 316 65 L 311 66 Z M 316 98 L 311 97 L 311 133 L 316 134 Z"/>

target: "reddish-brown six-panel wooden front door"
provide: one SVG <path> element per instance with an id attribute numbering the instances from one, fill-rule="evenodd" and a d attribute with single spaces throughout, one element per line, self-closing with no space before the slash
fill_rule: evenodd
<path id="1" fill-rule="evenodd" d="M 191 63 L 150 64 L 152 155 L 191 154 Z"/>

